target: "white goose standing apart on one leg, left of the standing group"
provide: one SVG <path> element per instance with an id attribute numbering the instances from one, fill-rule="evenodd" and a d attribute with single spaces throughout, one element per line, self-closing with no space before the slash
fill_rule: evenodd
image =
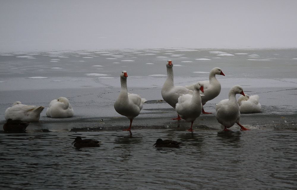
<path id="1" fill-rule="evenodd" d="M 139 115 L 142 109 L 143 103 L 146 99 L 141 98 L 138 94 L 130 94 L 127 89 L 127 71 L 122 71 L 120 75 L 121 79 L 121 92 L 114 103 L 114 109 L 119 114 L 126 116 L 130 119 L 130 125 L 125 131 L 131 132 L 131 125 L 133 119 Z"/>

